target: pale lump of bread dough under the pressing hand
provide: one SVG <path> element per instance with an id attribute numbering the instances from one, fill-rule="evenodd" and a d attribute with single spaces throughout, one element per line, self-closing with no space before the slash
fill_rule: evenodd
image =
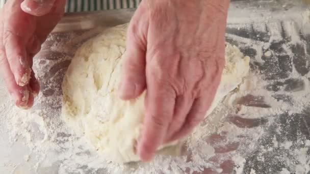
<path id="1" fill-rule="evenodd" d="M 122 101 L 117 88 L 127 24 L 84 43 L 75 53 L 63 81 L 62 115 L 77 134 L 85 135 L 108 161 L 138 161 L 134 146 L 144 117 L 144 96 Z M 216 97 L 206 115 L 249 71 L 249 57 L 227 44 L 226 65 Z"/>

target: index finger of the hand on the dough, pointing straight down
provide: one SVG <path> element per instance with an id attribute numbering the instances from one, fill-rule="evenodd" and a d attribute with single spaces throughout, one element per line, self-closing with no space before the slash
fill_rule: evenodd
<path id="1" fill-rule="evenodd" d="M 150 83 L 147 89 L 145 120 L 141 138 L 138 141 L 138 154 L 143 161 L 152 159 L 162 144 L 171 122 L 175 93 L 168 86 Z"/>

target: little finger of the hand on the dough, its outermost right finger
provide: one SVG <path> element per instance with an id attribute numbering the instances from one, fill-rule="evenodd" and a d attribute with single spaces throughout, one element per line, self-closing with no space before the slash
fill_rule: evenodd
<path id="1" fill-rule="evenodd" d="M 175 141 L 188 135 L 195 128 L 195 126 L 197 126 L 204 119 L 204 115 L 206 114 L 206 111 L 208 111 L 210 104 L 211 102 L 209 98 L 200 97 L 196 99 L 190 112 L 187 115 L 186 121 L 182 126 L 182 129 L 180 129 L 179 132 L 175 133 L 171 137 L 170 141 Z"/>

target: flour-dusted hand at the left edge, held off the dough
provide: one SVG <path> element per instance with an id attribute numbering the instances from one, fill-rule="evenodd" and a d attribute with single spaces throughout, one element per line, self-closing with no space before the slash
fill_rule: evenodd
<path id="1" fill-rule="evenodd" d="M 33 56 L 64 13 L 64 0 L 57 0 L 41 17 L 21 10 L 22 0 L 10 0 L 0 10 L 0 74 L 17 106 L 29 108 L 39 92 L 32 70 Z"/>

